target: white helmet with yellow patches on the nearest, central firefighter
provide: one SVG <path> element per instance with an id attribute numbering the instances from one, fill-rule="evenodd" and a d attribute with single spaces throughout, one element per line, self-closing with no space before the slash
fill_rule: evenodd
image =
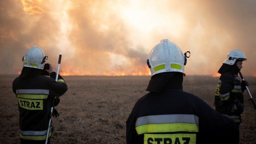
<path id="1" fill-rule="evenodd" d="M 161 40 L 153 47 L 147 60 L 151 76 L 162 72 L 181 72 L 185 76 L 184 65 L 186 57 L 189 57 L 186 53 L 184 56 L 182 50 L 168 39 Z"/>

